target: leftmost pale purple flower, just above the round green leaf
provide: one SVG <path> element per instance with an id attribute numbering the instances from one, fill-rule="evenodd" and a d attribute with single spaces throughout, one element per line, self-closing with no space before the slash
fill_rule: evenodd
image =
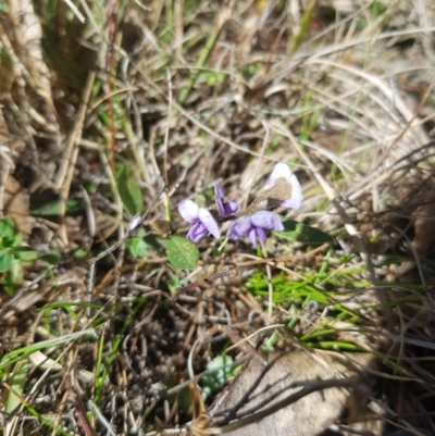
<path id="1" fill-rule="evenodd" d="M 178 204 L 178 212 L 190 224 L 194 224 L 186 235 L 192 242 L 199 242 L 208 233 L 215 238 L 221 236 L 219 225 L 213 215 L 204 208 L 199 208 L 191 200 L 184 200 Z"/>

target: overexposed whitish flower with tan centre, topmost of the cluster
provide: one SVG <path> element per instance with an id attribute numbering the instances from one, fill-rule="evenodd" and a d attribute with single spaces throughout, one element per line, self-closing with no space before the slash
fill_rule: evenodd
<path id="1" fill-rule="evenodd" d="M 278 162 L 273 169 L 269 177 L 269 187 L 275 187 L 278 204 L 283 208 L 298 209 L 303 200 L 299 180 L 284 162 Z"/>

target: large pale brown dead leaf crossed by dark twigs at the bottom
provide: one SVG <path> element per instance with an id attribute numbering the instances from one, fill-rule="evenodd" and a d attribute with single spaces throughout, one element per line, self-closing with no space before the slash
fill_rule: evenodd
<path id="1" fill-rule="evenodd" d="M 358 361 L 364 368 L 372 364 L 373 358 L 360 354 Z M 264 365 L 262 359 L 253 357 L 249 366 L 209 409 L 213 416 L 212 426 L 219 425 L 216 433 L 234 436 L 250 436 L 253 433 L 314 436 L 340 416 L 346 406 L 351 403 L 349 399 L 352 395 L 359 397 L 355 403 L 364 404 L 365 387 L 363 390 L 343 387 L 350 379 L 353 386 L 362 384 L 363 370 L 346 356 L 294 351 L 274 357 L 270 362 Z M 330 384 L 330 388 L 316 390 L 316 385 L 321 387 L 323 384 Z M 285 398 L 310 386 L 313 388 L 311 394 L 263 419 L 260 419 L 261 415 L 254 419 L 257 413 L 278 406 Z M 360 411 L 352 413 L 361 415 Z M 244 421 L 252 423 L 238 427 Z M 213 433 L 212 428 L 209 431 Z"/>

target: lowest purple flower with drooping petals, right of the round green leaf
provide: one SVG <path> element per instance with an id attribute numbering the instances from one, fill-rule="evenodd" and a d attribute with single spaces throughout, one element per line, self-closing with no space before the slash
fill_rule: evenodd
<path id="1" fill-rule="evenodd" d="M 284 231 L 284 225 L 276 213 L 269 211 L 256 212 L 253 215 L 241 216 L 229 225 L 228 239 L 237 239 L 241 236 L 251 238 L 253 247 L 257 247 L 257 237 L 261 245 L 265 246 L 266 231 Z"/>

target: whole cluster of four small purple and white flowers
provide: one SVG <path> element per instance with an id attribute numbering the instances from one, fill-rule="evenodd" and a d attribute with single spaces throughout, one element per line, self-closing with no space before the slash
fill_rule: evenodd
<path id="1" fill-rule="evenodd" d="M 239 212 L 239 205 L 235 201 L 225 201 L 224 189 L 220 184 L 214 184 L 214 202 L 219 213 L 219 220 L 224 221 L 234 216 L 227 237 L 238 239 L 249 236 L 253 247 L 257 247 L 257 238 L 265 246 L 266 231 L 284 231 L 284 225 L 276 213 L 266 209 L 284 207 L 297 209 L 303 200 L 302 189 L 295 174 L 287 164 L 278 162 L 269 178 L 269 189 L 260 192 L 252 204 L 244 212 Z M 209 211 L 199 208 L 191 200 L 184 200 L 178 205 L 183 219 L 192 224 L 186 238 L 199 242 L 208 233 L 215 238 L 221 236 L 215 219 L 215 210 Z"/>

